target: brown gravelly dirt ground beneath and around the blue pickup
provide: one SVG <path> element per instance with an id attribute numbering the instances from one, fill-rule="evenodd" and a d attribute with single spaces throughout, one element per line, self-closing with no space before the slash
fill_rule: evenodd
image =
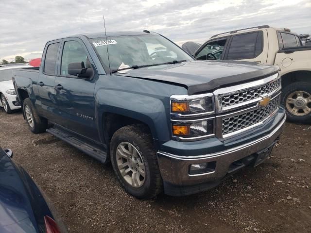
<path id="1" fill-rule="evenodd" d="M 141 201 L 103 166 L 49 133 L 33 134 L 22 115 L 0 108 L 0 146 L 14 151 L 51 199 L 69 233 L 311 232 L 311 130 L 286 123 L 272 155 L 218 187 Z"/>

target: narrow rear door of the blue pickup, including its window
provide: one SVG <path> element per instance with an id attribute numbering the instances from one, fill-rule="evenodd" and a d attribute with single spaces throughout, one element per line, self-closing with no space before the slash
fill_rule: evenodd
<path id="1" fill-rule="evenodd" d="M 49 42 L 46 45 L 45 54 L 43 54 L 42 65 L 40 66 L 38 78 L 38 92 L 41 101 L 40 115 L 50 119 L 55 119 L 55 110 L 57 108 L 54 82 L 57 72 L 57 57 L 61 45 L 61 40 Z"/>

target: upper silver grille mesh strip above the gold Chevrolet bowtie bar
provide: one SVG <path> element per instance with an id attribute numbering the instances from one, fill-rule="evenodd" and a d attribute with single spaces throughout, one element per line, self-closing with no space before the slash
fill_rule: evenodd
<path id="1" fill-rule="evenodd" d="M 221 97 L 222 106 L 231 106 L 237 103 L 242 103 L 248 100 L 254 100 L 260 95 L 268 94 L 276 90 L 281 85 L 281 80 L 278 79 L 272 83 L 267 83 L 262 86 L 248 89 L 242 92 L 237 92 L 232 95 L 226 95 Z"/>

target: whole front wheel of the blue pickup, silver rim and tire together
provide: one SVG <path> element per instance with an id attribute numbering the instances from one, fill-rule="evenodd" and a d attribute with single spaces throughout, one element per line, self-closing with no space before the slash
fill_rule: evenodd
<path id="1" fill-rule="evenodd" d="M 124 189 L 139 199 L 150 199 L 162 191 L 152 136 L 146 126 L 124 126 L 110 143 L 113 169 Z"/>

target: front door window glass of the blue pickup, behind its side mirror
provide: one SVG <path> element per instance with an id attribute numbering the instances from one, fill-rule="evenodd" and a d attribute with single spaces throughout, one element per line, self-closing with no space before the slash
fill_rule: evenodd
<path id="1" fill-rule="evenodd" d="M 83 66 L 85 68 L 91 68 L 85 50 L 77 41 L 66 41 L 64 44 L 61 64 L 62 75 L 69 75 L 68 67 L 71 63 L 81 64 L 81 68 Z"/>

